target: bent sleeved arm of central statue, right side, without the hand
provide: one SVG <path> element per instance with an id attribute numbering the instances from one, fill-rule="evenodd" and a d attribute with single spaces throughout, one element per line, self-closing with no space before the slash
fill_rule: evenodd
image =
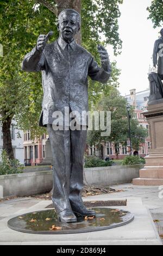
<path id="1" fill-rule="evenodd" d="M 111 74 L 110 63 L 100 68 L 97 62 L 95 61 L 95 59 L 91 56 L 88 75 L 91 77 L 92 80 L 95 80 L 101 83 L 107 83 L 110 78 L 110 74 Z"/>

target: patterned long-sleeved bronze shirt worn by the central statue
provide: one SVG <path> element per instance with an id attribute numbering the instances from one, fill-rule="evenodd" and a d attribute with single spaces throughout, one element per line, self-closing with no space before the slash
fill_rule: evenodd
<path id="1" fill-rule="evenodd" d="M 40 126 L 53 124 L 53 113 L 65 107 L 71 111 L 88 111 L 87 76 L 92 80 L 106 83 L 111 74 L 100 68 L 87 52 L 76 41 L 67 44 L 61 37 L 47 44 L 43 52 L 36 47 L 23 60 L 22 69 L 25 71 L 42 71 L 43 101 Z M 76 121 L 82 124 L 82 120 Z"/>

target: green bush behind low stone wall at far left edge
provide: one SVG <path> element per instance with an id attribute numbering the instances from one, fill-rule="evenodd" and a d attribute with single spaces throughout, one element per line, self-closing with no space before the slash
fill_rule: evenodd
<path id="1" fill-rule="evenodd" d="M 22 173 L 23 168 L 23 164 L 21 164 L 17 159 L 8 159 L 7 152 L 5 150 L 2 151 L 0 175 Z"/>

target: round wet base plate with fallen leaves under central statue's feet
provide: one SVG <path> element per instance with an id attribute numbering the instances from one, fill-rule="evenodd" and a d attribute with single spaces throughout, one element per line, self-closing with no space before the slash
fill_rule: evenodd
<path id="1" fill-rule="evenodd" d="M 103 207 L 91 209 L 96 211 L 96 217 L 78 217 L 75 223 L 59 222 L 55 210 L 49 209 L 11 218 L 8 227 L 32 234 L 73 234 L 116 228 L 134 220 L 129 211 Z"/>

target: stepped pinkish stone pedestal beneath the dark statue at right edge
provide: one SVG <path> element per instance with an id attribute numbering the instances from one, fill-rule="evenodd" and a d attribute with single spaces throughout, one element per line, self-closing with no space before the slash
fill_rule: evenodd
<path id="1" fill-rule="evenodd" d="M 133 185 L 160 186 L 163 185 L 163 99 L 156 100 L 155 104 L 149 102 L 143 115 L 149 123 L 151 149 L 145 157 L 145 167 L 140 170 L 140 178 L 133 179 Z"/>

